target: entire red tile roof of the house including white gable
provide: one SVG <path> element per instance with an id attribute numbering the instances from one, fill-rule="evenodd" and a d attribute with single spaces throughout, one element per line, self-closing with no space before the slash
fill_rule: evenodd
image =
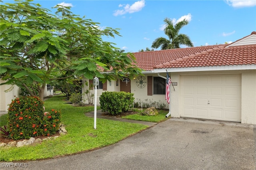
<path id="1" fill-rule="evenodd" d="M 256 65 L 256 32 L 230 44 L 134 53 L 146 71 L 165 68 Z"/>

